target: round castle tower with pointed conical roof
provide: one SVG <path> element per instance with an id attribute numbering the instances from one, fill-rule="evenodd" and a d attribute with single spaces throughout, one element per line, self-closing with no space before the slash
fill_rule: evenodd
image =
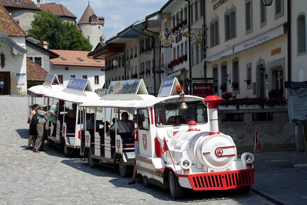
<path id="1" fill-rule="evenodd" d="M 93 45 L 93 51 L 96 45 L 103 41 L 104 17 L 96 16 L 90 6 L 90 1 L 78 22 L 78 26 L 81 29 L 83 36 Z"/>

